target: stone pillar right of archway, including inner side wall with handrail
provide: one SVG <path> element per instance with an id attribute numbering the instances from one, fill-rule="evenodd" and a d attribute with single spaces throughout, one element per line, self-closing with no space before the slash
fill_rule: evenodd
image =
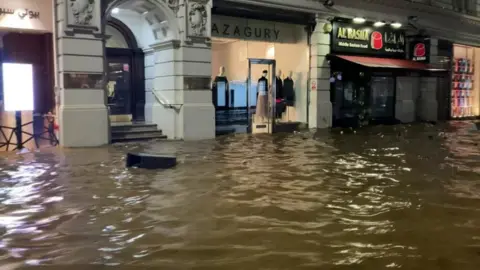
<path id="1" fill-rule="evenodd" d="M 180 39 L 152 44 L 146 51 L 145 118 L 171 139 L 211 139 L 211 1 L 181 2 L 177 19 Z"/>

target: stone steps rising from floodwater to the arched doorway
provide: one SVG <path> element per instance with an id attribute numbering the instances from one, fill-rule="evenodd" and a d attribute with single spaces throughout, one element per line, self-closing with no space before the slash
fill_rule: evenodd
<path id="1" fill-rule="evenodd" d="M 112 142 L 166 139 L 156 124 L 149 123 L 112 123 Z"/>

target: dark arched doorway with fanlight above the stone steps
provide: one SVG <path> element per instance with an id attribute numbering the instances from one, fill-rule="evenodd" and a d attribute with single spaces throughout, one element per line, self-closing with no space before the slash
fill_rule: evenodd
<path id="1" fill-rule="evenodd" d="M 134 34 L 116 18 L 105 26 L 107 90 L 112 122 L 145 121 L 144 53 Z"/>

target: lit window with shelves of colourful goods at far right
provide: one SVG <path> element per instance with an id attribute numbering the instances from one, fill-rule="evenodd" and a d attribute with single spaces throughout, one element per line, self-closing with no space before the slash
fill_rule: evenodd
<path id="1" fill-rule="evenodd" d="M 451 116 L 465 118 L 480 115 L 480 48 L 454 45 L 452 67 Z"/>

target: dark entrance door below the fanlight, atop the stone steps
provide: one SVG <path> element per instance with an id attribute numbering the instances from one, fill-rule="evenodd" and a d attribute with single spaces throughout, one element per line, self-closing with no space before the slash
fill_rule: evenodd
<path id="1" fill-rule="evenodd" d="M 131 58 L 108 58 L 108 106 L 110 114 L 132 118 Z"/>

